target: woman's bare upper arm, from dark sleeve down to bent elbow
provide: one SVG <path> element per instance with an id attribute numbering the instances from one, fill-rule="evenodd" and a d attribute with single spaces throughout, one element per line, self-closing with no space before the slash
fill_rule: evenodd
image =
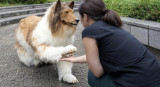
<path id="1" fill-rule="evenodd" d="M 84 37 L 83 43 L 86 51 L 86 59 L 91 72 L 99 78 L 104 74 L 103 67 L 100 63 L 97 41 L 93 38 Z"/>

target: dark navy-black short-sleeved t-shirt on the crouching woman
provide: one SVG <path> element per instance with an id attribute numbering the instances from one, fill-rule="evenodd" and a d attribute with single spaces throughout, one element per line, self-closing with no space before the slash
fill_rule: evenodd
<path id="1" fill-rule="evenodd" d="M 160 84 L 159 61 L 129 32 L 96 21 L 86 27 L 82 38 L 98 43 L 100 61 L 116 87 L 154 87 Z"/>

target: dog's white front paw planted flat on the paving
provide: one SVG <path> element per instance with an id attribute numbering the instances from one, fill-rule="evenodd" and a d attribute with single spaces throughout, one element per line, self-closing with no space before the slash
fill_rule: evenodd
<path id="1" fill-rule="evenodd" d="M 65 74 L 62 79 L 63 81 L 68 82 L 68 83 L 78 83 L 77 78 L 71 74 Z"/>

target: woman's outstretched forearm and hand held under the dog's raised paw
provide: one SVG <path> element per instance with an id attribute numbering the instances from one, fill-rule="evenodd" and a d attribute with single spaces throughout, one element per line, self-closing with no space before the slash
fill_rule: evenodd
<path id="1" fill-rule="evenodd" d="M 60 61 L 68 61 L 72 63 L 86 63 L 86 55 L 79 56 L 79 57 L 69 57 L 69 58 L 62 58 Z"/>

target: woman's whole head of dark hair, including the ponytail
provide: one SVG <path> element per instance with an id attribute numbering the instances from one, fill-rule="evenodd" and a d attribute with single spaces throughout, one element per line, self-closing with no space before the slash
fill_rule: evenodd
<path id="1" fill-rule="evenodd" d="M 102 0 L 84 0 L 80 4 L 78 11 L 82 17 L 83 14 L 87 14 L 95 21 L 103 20 L 117 27 L 122 26 L 122 21 L 117 12 L 109 9 L 107 10 Z"/>

